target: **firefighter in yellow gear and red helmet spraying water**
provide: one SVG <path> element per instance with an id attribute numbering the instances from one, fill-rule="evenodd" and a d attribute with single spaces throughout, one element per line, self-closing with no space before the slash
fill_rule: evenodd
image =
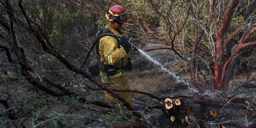
<path id="1" fill-rule="evenodd" d="M 125 71 L 131 71 L 131 58 L 129 38 L 123 36 L 122 25 L 127 23 L 127 12 L 121 5 L 113 5 L 105 14 L 108 24 L 103 33 L 113 33 L 121 36 L 117 38 L 106 35 L 99 39 L 99 59 L 102 66 L 99 67 L 101 81 L 111 89 L 129 89 Z M 131 105 L 131 93 L 117 92 Z M 105 91 L 105 101 L 118 104 L 117 99 Z"/>

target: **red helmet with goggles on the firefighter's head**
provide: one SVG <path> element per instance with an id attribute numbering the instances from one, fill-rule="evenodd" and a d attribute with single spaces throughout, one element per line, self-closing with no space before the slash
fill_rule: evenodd
<path id="1" fill-rule="evenodd" d="M 109 21 L 117 21 L 117 23 L 127 23 L 127 12 L 121 5 L 113 5 L 106 13 L 106 18 Z"/>

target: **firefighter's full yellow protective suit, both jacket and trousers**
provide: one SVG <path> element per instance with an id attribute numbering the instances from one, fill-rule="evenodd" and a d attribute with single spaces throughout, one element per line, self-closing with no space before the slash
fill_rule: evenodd
<path id="1" fill-rule="evenodd" d="M 107 25 L 105 28 L 109 29 L 115 35 L 122 36 L 115 29 Z M 113 36 L 106 35 L 99 39 L 99 56 L 100 61 L 105 65 L 112 65 L 115 68 L 120 68 L 117 70 L 115 75 L 109 76 L 105 71 L 99 71 L 101 75 L 101 81 L 111 89 L 129 89 L 129 84 L 125 71 L 123 67 L 127 65 L 127 59 L 130 57 L 129 53 L 126 53 L 125 49 L 120 45 L 118 48 L 117 38 Z M 130 105 L 131 103 L 131 93 L 128 92 L 116 92 L 125 99 Z M 105 101 L 111 104 L 117 104 L 119 101 L 111 96 L 111 94 L 105 91 Z"/>

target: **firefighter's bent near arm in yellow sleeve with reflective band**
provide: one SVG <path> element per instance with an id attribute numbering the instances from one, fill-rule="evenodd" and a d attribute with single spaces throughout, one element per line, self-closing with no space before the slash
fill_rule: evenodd
<path id="1" fill-rule="evenodd" d="M 106 59 L 107 65 L 114 65 L 122 58 L 127 57 L 125 49 L 123 49 L 121 45 L 118 48 L 117 39 L 115 39 L 115 37 L 105 36 L 103 38 L 104 39 L 102 39 L 101 41 L 103 41 L 103 54 L 104 58 Z"/>

